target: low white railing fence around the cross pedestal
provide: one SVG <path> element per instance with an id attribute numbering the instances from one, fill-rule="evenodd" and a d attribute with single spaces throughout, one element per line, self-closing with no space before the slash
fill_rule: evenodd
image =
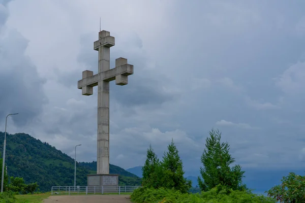
<path id="1" fill-rule="evenodd" d="M 140 186 L 52 186 L 52 195 L 131 194 Z"/>

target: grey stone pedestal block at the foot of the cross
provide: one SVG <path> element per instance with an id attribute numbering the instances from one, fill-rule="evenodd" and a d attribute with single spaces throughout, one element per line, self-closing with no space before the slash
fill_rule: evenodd
<path id="1" fill-rule="evenodd" d="M 113 190 L 118 187 L 118 174 L 90 174 L 87 175 L 87 181 L 87 185 L 91 186 L 88 188 L 93 188 L 92 186 L 104 186 L 104 192 L 107 192 L 106 188 Z"/>

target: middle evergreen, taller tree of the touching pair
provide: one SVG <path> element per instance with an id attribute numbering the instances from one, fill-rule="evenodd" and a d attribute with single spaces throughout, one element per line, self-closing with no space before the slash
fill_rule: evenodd
<path id="1" fill-rule="evenodd" d="M 162 186 L 168 189 L 176 189 L 181 192 L 188 192 L 192 187 L 192 182 L 184 178 L 182 160 L 173 142 L 168 145 L 168 152 L 164 153 L 162 160 Z"/>

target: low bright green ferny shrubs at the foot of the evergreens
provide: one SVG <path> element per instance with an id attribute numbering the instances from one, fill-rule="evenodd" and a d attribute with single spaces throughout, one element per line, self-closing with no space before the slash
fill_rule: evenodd
<path id="1" fill-rule="evenodd" d="M 181 193 L 174 189 L 138 188 L 131 195 L 135 203 L 275 203 L 275 199 L 247 191 L 234 191 L 218 185 L 202 194 Z"/>

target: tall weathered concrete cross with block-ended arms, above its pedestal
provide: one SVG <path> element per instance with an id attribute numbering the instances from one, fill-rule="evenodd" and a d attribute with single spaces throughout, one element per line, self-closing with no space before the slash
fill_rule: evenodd
<path id="1" fill-rule="evenodd" d="M 115 59 L 115 68 L 109 69 L 110 47 L 114 46 L 114 37 L 109 31 L 99 32 L 99 40 L 94 42 L 94 50 L 99 51 L 99 73 L 83 71 L 78 89 L 82 95 L 92 95 L 93 87 L 98 86 L 98 151 L 97 174 L 109 174 L 109 82 L 127 85 L 128 76 L 133 74 L 133 65 L 126 58 Z"/>

